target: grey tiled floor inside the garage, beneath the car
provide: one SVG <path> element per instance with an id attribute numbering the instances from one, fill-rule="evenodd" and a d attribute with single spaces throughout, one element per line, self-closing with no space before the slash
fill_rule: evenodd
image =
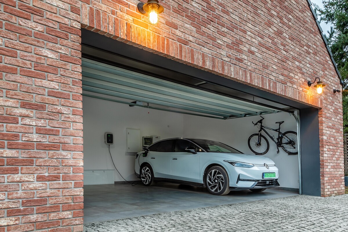
<path id="1" fill-rule="evenodd" d="M 153 187 L 142 184 L 100 184 L 84 186 L 84 223 L 167 213 L 209 206 L 220 206 L 298 195 L 296 192 L 268 189 L 261 193 L 231 191 L 216 196 L 205 188 L 170 183 Z"/>

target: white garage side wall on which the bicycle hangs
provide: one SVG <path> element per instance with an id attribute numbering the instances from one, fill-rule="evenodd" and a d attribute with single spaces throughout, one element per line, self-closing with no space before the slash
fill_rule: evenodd
<path id="1" fill-rule="evenodd" d="M 297 124 L 295 118 L 288 113 L 276 113 L 262 115 L 263 126 L 270 128 L 278 128 L 275 122 L 284 121 L 281 125 L 280 131 L 288 130 L 297 131 Z M 197 117 L 193 115 L 184 115 L 184 137 L 187 138 L 207 138 L 221 143 L 230 145 L 237 150 L 253 154 L 248 147 L 248 138 L 250 135 L 258 133 L 258 128 L 252 124 L 260 120 L 260 116 L 251 116 L 236 119 L 211 119 Z M 267 130 L 270 135 L 275 138 L 278 134 L 274 131 Z M 277 154 L 276 144 L 268 138 L 266 133 L 262 133 L 269 142 L 269 151 L 264 154 L 264 157 L 272 159 L 279 169 L 279 183 L 281 187 L 299 188 L 299 165 L 298 155 L 288 155 L 282 148 L 279 148 Z"/>

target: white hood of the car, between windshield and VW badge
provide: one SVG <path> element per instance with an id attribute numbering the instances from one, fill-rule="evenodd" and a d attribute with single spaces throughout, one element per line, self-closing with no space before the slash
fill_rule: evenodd
<path id="1" fill-rule="evenodd" d="M 204 153 L 202 153 L 204 154 Z M 273 160 L 261 155 L 250 155 L 250 154 L 238 154 L 238 153 L 222 153 L 222 152 L 207 152 L 207 155 L 214 155 L 215 157 L 221 157 L 228 161 L 236 161 L 243 163 L 261 164 L 267 163 L 268 165 L 275 164 Z"/>

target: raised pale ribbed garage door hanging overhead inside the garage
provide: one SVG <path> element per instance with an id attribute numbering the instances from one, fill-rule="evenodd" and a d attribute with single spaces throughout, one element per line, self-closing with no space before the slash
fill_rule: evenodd
<path id="1" fill-rule="evenodd" d="M 84 96 L 219 119 L 282 112 L 86 58 L 82 90 Z"/>

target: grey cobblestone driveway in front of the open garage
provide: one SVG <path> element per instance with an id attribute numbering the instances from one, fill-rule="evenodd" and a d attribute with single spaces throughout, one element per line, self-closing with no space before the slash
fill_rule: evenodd
<path id="1" fill-rule="evenodd" d="M 294 197 L 86 224 L 85 232 L 348 231 L 348 194 Z"/>

